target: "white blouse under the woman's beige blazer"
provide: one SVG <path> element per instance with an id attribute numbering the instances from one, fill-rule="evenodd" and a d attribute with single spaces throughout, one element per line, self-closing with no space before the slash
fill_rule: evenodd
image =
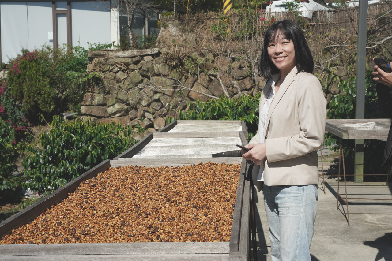
<path id="1" fill-rule="evenodd" d="M 270 80 L 271 83 L 271 91 L 268 94 L 267 100 L 263 104 L 263 107 L 261 107 L 261 110 L 259 112 L 259 142 L 260 143 L 265 143 L 265 128 L 267 127 L 267 115 L 268 115 L 268 110 L 271 105 L 272 100 L 275 97 L 275 79 Z M 278 78 L 279 79 L 279 78 Z M 267 87 L 264 87 L 267 88 Z M 260 170 L 259 174 L 257 176 L 257 180 L 264 181 L 263 179 L 263 172 L 264 172 L 264 161 L 261 161 L 259 163 L 260 165 Z"/>

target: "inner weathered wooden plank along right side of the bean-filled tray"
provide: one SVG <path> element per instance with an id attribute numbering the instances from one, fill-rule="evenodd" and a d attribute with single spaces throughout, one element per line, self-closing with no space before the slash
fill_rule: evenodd
<path id="1" fill-rule="evenodd" d="M 243 202 L 245 177 L 247 171 L 246 160 L 242 157 L 241 159 L 242 159 L 241 176 L 238 180 L 236 202 L 234 205 L 233 223 L 232 223 L 231 235 L 230 235 L 230 252 L 238 252 L 238 248 L 240 247 L 241 213 L 243 211 L 242 202 Z"/>

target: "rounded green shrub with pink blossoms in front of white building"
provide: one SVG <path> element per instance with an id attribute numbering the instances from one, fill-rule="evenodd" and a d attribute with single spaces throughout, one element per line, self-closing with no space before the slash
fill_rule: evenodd
<path id="1" fill-rule="evenodd" d="M 36 119 L 39 113 L 50 115 L 67 111 L 70 102 L 79 102 L 75 96 L 80 93 L 80 85 L 67 76 L 64 68 L 67 58 L 65 49 L 43 47 L 29 52 L 23 50 L 11 62 L 7 74 L 7 85 L 11 97 L 22 102 L 22 110 Z"/>

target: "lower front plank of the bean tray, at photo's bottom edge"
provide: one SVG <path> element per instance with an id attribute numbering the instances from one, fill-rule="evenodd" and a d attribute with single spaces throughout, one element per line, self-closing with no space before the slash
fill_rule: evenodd
<path id="1" fill-rule="evenodd" d="M 138 255 L 62 255 L 62 256 L 9 256 L 2 258 L 4 261 L 229 261 L 229 254 L 138 254 Z"/>

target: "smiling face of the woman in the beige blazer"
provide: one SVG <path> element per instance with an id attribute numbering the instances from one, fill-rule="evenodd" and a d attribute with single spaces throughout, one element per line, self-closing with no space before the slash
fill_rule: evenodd
<path id="1" fill-rule="evenodd" d="M 281 73 L 289 73 L 297 64 L 293 42 L 279 32 L 269 42 L 267 51 L 271 62 Z"/>

